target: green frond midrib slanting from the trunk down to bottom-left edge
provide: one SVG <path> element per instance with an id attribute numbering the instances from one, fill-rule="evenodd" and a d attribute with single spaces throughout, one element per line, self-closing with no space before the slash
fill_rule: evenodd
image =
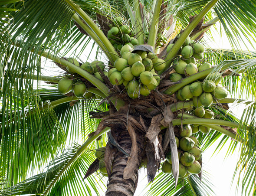
<path id="1" fill-rule="evenodd" d="M 104 130 L 102 130 L 98 135 L 89 137 L 84 144 L 82 144 L 82 146 L 79 148 L 79 150 L 75 153 L 75 155 L 69 160 L 69 162 L 65 165 L 65 167 L 63 167 L 63 169 L 59 172 L 59 174 L 55 177 L 55 179 L 53 180 L 53 182 L 48 186 L 48 188 L 46 189 L 46 191 L 44 192 L 44 196 L 49 192 L 49 190 L 52 188 L 52 186 L 54 185 L 54 183 L 56 183 L 56 181 L 59 179 L 59 177 L 62 175 L 62 173 L 64 173 L 66 171 L 66 169 L 73 163 L 73 161 L 79 157 L 79 155 L 94 141 L 96 140 L 99 136 L 101 136 L 102 134 L 104 134 L 105 132 L 109 131 L 109 128 L 105 128 Z"/>

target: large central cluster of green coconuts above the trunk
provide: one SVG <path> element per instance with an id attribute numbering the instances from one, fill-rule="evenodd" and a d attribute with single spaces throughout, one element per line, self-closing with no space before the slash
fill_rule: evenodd
<path id="1" fill-rule="evenodd" d="M 109 70 L 108 78 L 112 85 L 124 85 L 128 96 L 135 99 L 139 95 L 148 96 L 157 88 L 160 83 L 158 73 L 166 64 L 152 52 L 132 51 L 129 45 L 121 48 L 121 58 L 116 59 L 115 68 Z"/>

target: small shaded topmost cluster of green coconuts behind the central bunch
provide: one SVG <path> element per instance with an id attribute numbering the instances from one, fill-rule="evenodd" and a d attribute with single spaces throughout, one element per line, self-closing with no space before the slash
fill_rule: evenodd
<path id="1" fill-rule="evenodd" d="M 108 31 L 108 40 L 115 50 L 120 51 L 124 45 L 133 47 L 138 44 L 138 40 L 134 37 L 135 32 L 130 26 L 123 24 L 121 17 L 116 17 L 113 22 L 115 26 Z"/>

